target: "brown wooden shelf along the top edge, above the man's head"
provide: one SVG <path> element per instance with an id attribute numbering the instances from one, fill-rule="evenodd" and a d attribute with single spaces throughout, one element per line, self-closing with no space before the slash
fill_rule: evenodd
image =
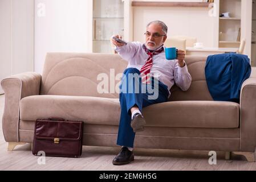
<path id="1" fill-rule="evenodd" d="M 147 6 L 147 7 L 209 7 L 209 2 L 148 2 L 148 1 L 133 1 L 132 6 Z"/>

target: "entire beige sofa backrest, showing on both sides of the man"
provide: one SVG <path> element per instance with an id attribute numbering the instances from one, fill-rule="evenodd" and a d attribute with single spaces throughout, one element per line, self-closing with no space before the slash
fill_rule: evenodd
<path id="1" fill-rule="evenodd" d="M 205 81 L 205 60 L 206 57 L 186 56 L 192 85 L 186 92 L 173 86 L 170 101 L 212 100 Z M 118 98 L 113 86 L 118 89 L 120 80 L 115 76 L 126 67 L 127 61 L 118 54 L 47 53 L 40 94 Z M 99 93 L 97 87 L 103 88 L 99 85 L 103 82 L 107 85 L 105 93 Z"/>

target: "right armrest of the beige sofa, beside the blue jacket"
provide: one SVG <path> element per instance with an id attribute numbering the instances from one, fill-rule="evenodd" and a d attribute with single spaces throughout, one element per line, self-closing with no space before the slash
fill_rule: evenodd
<path id="1" fill-rule="evenodd" d="M 242 84 L 240 94 L 240 150 L 254 152 L 256 146 L 256 78 Z"/>

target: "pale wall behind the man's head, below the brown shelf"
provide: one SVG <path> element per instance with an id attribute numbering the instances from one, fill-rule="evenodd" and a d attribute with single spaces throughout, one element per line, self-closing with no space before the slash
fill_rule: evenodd
<path id="1" fill-rule="evenodd" d="M 208 7 L 133 7 L 133 40 L 144 42 L 147 23 L 162 20 L 168 36 L 193 36 L 205 47 L 218 47 L 218 18 L 208 13 Z"/>

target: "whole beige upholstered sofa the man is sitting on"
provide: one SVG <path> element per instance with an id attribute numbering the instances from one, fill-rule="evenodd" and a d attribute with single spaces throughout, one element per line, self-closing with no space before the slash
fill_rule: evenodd
<path id="1" fill-rule="evenodd" d="M 206 85 L 205 61 L 206 57 L 187 56 L 190 89 L 182 92 L 173 86 L 169 102 L 145 107 L 147 127 L 136 134 L 135 147 L 225 151 L 227 159 L 235 152 L 254 161 L 256 78 L 243 83 L 240 105 L 216 102 Z M 2 125 L 9 150 L 32 143 L 36 118 L 52 116 L 83 120 L 84 145 L 116 146 L 119 94 L 98 93 L 102 80 L 97 76 L 107 73 L 111 83 L 110 77 L 123 73 L 126 66 L 117 54 L 48 53 L 42 77 L 27 72 L 3 79 Z"/>

